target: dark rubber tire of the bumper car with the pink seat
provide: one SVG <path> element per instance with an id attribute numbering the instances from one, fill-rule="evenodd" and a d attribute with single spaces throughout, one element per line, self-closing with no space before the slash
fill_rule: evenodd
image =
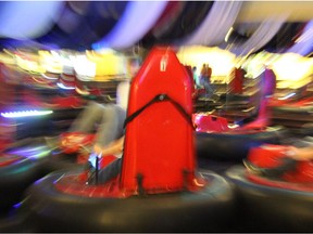
<path id="1" fill-rule="evenodd" d="M 279 144 L 288 131 L 283 127 L 267 128 L 266 131 L 251 134 L 196 133 L 197 156 L 214 160 L 241 161 L 251 147 L 264 143 Z"/>

